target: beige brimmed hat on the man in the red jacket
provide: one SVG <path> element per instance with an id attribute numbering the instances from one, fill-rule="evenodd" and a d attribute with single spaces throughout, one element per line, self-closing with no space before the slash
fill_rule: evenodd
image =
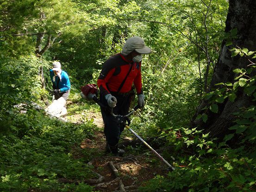
<path id="1" fill-rule="evenodd" d="M 139 54 L 150 54 L 151 49 L 145 45 L 144 40 L 141 37 L 134 36 L 126 40 L 121 54 L 124 56 L 129 55 L 133 50 Z"/>

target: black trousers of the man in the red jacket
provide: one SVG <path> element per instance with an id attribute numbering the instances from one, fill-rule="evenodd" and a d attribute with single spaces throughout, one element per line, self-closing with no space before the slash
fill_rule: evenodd
<path id="1" fill-rule="evenodd" d="M 131 105 L 131 96 L 121 96 L 114 93 L 112 93 L 112 95 L 117 99 L 117 105 L 113 108 L 113 113 L 115 115 L 126 115 Z M 100 102 L 103 105 L 108 106 L 107 101 L 102 94 L 100 94 Z M 115 146 L 119 142 L 120 135 L 125 128 L 125 124 L 117 124 L 117 119 L 110 113 L 110 107 L 109 110 L 100 107 L 100 110 L 104 121 L 106 142 L 111 146 Z"/>

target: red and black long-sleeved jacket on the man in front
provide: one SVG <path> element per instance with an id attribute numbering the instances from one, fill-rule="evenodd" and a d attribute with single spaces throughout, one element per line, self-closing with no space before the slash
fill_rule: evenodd
<path id="1" fill-rule="evenodd" d="M 121 87 L 126 76 L 127 78 Z M 97 81 L 100 93 L 104 96 L 111 92 L 127 93 L 131 91 L 132 83 L 134 83 L 136 87 L 137 94 L 143 93 L 141 82 L 141 62 L 137 63 L 127 61 L 120 53 L 106 60 Z M 121 89 L 119 90 L 120 87 Z"/>

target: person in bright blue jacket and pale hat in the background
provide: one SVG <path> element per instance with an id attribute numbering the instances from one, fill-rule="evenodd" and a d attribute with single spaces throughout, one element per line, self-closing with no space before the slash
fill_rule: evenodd
<path id="1" fill-rule="evenodd" d="M 69 75 L 61 69 L 60 62 L 53 62 L 53 68 L 50 69 L 50 80 L 53 88 L 50 93 L 54 95 L 54 99 L 63 97 L 67 100 L 70 92 Z"/>

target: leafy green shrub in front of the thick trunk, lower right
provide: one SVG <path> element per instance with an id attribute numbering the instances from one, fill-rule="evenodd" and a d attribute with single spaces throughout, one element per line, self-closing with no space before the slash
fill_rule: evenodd
<path id="1" fill-rule="evenodd" d="M 246 54 L 248 50 L 240 50 Z M 248 53 L 247 53 L 248 54 Z M 210 109 L 218 113 L 219 103 L 225 99 L 236 101 L 238 94 L 249 96 L 256 100 L 255 64 L 248 69 L 235 69 L 237 73 L 235 82 L 219 83 L 218 88 L 208 94 L 205 99 Z M 256 189 L 256 112 L 255 105 L 240 109 L 234 115 L 237 117 L 234 125 L 227 128 L 233 133 L 217 142 L 202 134 L 201 130 L 167 127 L 162 130 L 161 136 L 165 137 L 169 145 L 176 149 L 176 170 L 169 172 L 166 177 L 156 176 L 144 186 L 142 192 L 252 192 Z M 206 113 L 198 118 L 207 121 Z M 229 146 L 231 139 L 237 143 Z"/>

